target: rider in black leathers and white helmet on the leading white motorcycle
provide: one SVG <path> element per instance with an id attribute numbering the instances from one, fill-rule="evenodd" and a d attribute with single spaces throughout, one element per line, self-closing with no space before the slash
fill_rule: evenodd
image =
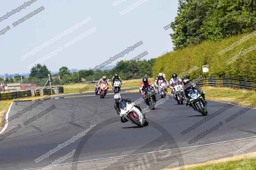
<path id="1" fill-rule="evenodd" d="M 122 97 L 120 93 L 116 93 L 116 94 L 114 95 L 114 99 L 115 99 L 114 108 L 116 109 L 117 115 L 120 115 L 121 110 L 120 110 L 120 108 L 119 108 L 119 103 L 122 102 L 122 101 L 132 103 L 132 105 L 133 105 L 134 107 L 138 108 L 138 109 L 140 110 L 140 112 L 141 112 L 144 116 L 146 115 L 146 113 L 143 113 L 143 112 L 142 112 L 139 103 L 135 103 L 134 100 L 132 100 L 132 99 L 130 99 L 130 98 L 128 98 L 128 97 Z M 125 119 L 124 117 L 121 117 L 121 116 L 120 116 L 120 119 L 121 119 L 121 122 L 123 122 L 123 123 L 128 121 L 127 119 Z"/>

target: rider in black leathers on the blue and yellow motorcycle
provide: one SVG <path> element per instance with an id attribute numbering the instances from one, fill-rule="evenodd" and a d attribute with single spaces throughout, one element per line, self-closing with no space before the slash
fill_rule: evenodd
<path id="1" fill-rule="evenodd" d="M 203 99 L 204 99 L 204 101 L 205 101 L 205 104 L 207 104 L 207 101 L 205 100 L 205 96 L 204 96 L 205 92 L 201 89 L 200 86 L 197 86 L 196 84 L 191 83 L 188 78 L 185 78 L 185 79 L 183 80 L 183 84 L 184 84 L 184 86 L 182 87 L 182 91 L 181 91 L 181 92 L 184 93 L 184 97 L 185 97 L 185 100 L 186 100 L 186 106 L 188 106 L 188 107 L 193 107 L 193 105 L 192 105 L 191 102 L 189 101 L 189 96 L 188 96 L 189 91 L 190 91 L 191 89 L 198 90 L 198 92 L 202 95 L 202 97 L 203 97 Z M 193 107 L 193 108 L 194 108 L 194 107 Z M 195 110 L 195 108 L 194 108 L 194 110 Z"/>

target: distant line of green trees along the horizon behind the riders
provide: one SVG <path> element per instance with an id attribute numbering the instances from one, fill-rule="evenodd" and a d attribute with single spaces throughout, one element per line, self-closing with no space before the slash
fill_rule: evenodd
<path id="1" fill-rule="evenodd" d="M 30 70 L 29 78 L 22 76 L 23 82 L 31 82 L 38 86 L 44 86 L 47 81 L 48 74 L 50 74 L 52 85 L 67 85 L 75 84 L 84 81 L 99 80 L 102 76 L 107 76 L 111 79 L 115 73 L 123 80 L 142 78 L 153 76 L 153 66 L 156 63 L 156 58 L 150 60 L 138 60 L 138 61 L 120 61 L 113 69 L 107 70 L 79 70 L 77 72 L 71 72 L 68 67 L 61 67 L 58 74 L 51 74 L 51 71 L 45 65 L 36 64 Z M 78 77 L 79 76 L 79 77 Z M 60 78 L 60 79 L 59 79 Z M 11 79 L 6 79 L 8 83 L 20 82 L 20 76 L 15 76 Z M 1 79 L 0 79 L 1 80 Z M 48 84 L 49 85 L 49 84 Z"/>

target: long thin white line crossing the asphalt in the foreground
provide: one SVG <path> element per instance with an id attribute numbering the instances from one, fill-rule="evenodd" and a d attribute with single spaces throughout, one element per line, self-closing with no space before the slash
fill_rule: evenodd
<path id="1" fill-rule="evenodd" d="M 241 139 L 234 139 L 234 140 L 223 141 L 223 142 L 216 142 L 216 143 L 212 143 L 212 144 L 202 144 L 202 145 L 187 146 L 187 147 L 182 147 L 182 148 L 166 149 L 166 150 L 162 150 L 162 151 L 153 151 L 153 152 L 137 153 L 137 154 L 123 155 L 123 156 L 116 156 L 116 157 L 109 157 L 109 158 L 92 159 L 92 160 L 85 160 L 85 161 L 79 161 L 79 162 L 71 162 L 71 163 L 66 163 L 66 164 L 53 165 L 53 166 L 44 166 L 44 167 L 31 168 L 31 169 L 23 169 L 23 170 L 35 170 L 35 169 L 41 169 L 41 168 L 43 169 L 43 168 L 48 168 L 48 167 L 63 166 L 63 165 L 70 165 L 70 164 L 79 164 L 79 163 L 85 163 L 85 162 L 91 162 L 91 161 L 98 161 L 98 160 L 105 160 L 105 159 L 115 159 L 115 158 L 123 158 L 123 157 L 128 157 L 128 156 L 135 156 L 135 155 L 143 155 L 143 154 L 150 154 L 150 153 L 157 153 L 157 152 L 173 151 L 173 150 L 178 150 L 178 149 L 188 149 L 188 148 L 209 146 L 209 145 L 214 145 L 214 144 L 228 143 L 228 142 L 233 142 L 233 141 L 238 141 L 238 140 L 244 140 L 244 139 L 251 139 L 251 138 L 255 138 L 255 137 L 256 137 L 256 136 L 253 136 L 253 137 L 245 137 L 245 138 L 241 138 Z"/>

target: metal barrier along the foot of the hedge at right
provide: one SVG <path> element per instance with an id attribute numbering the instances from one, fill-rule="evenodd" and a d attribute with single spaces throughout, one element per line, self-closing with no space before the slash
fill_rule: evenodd
<path id="1" fill-rule="evenodd" d="M 256 91 L 255 80 L 245 80 L 244 78 L 228 78 L 228 77 L 208 77 L 202 81 L 196 83 L 199 86 L 219 86 L 219 87 L 231 87 L 238 89 L 247 89 Z"/>

